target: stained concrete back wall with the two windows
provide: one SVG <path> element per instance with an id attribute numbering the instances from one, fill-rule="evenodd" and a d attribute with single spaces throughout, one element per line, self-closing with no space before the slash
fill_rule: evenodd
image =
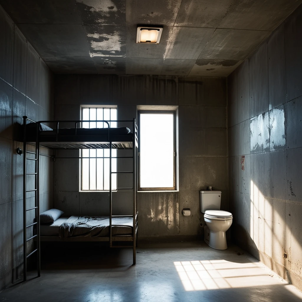
<path id="1" fill-rule="evenodd" d="M 226 79 L 56 75 L 55 119 L 79 119 L 80 104 L 115 104 L 118 119 L 135 117 L 137 105 L 178 106 L 179 191 L 139 192 L 140 239 L 200 235 L 199 190 L 209 185 L 222 190 L 221 208 L 228 209 Z M 77 150 L 59 154 L 67 153 L 79 155 Z M 118 169 L 124 168 L 120 162 Z M 114 214 L 131 214 L 131 198 L 114 193 Z M 79 160 L 58 159 L 55 205 L 67 214 L 108 214 L 108 193 L 79 192 Z M 183 208 L 191 208 L 190 217 L 181 214 Z"/>

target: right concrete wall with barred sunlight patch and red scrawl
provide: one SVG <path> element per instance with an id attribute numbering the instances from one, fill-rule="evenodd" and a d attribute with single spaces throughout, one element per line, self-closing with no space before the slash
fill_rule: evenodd
<path id="1" fill-rule="evenodd" d="M 300 6 L 227 78 L 233 237 L 300 289 L 301 32 Z"/>

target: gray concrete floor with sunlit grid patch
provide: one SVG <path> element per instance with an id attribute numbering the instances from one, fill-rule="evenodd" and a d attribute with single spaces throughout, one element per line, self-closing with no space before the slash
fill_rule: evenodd
<path id="1" fill-rule="evenodd" d="M 302 293 L 236 246 L 201 242 L 44 246 L 40 278 L 15 285 L 0 301 L 301 301 Z M 51 256 L 50 256 L 51 255 Z M 48 258 L 48 260 L 47 260 Z M 33 274 L 30 274 L 34 276 Z"/>

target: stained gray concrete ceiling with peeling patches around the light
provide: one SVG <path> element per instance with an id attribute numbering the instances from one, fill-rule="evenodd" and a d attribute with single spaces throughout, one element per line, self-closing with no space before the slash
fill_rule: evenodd
<path id="1" fill-rule="evenodd" d="M 302 0 L 0 0 L 55 73 L 228 76 Z M 137 25 L 162 25 L 158 45 Z"/>

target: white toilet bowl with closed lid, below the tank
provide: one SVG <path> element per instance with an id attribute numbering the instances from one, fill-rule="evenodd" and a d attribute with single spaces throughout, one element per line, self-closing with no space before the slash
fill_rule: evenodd
<path id="1" fill-rule="evenodd" d="M 205 242 L 213 249 L 227 249 L 226 231 L 232 225 L 232 214 L 221 210 L 206 210 L 204 221 L 209 230 Z"/>

